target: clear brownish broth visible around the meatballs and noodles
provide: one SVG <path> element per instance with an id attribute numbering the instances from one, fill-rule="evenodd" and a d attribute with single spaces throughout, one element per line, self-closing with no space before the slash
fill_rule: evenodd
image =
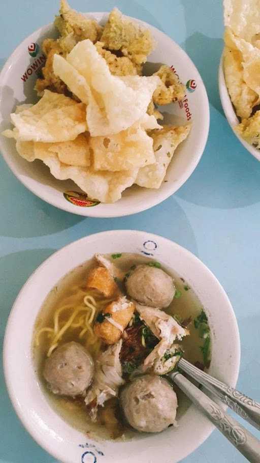
<path id="1" fill-rule="evenodd" d="M 106 257 L 111 259 L 120 270 L 127 272 L 132 265 L 147 263 L 153 259 L 142 256 L 140 254 L 123 253 L 121 257 L 113 259 L 111 255 Z M 72 302 L 77 305 L 82 302 L 82 293 L 80 289 L 84 288 L 87 272 L 94 265 L 94 259 L 87 261 L 85 264 L 75 268 L 73 271 L 64 276 L 52 291 L 47 296 L 39 316 L 35 324 L 35 331 L 39 328 L 50 326 L 53 311 L 63 305 L 65 302 Z M 200 314 L 202 305 L 191 288 L 187 286 L 181 275 L 177 275 L 172 269 L 164 267 L 164 270 L 170 274 L 175 280 L 175 286 L 177 290 L 181 292 L 181 297 L 173 299 L 172 304 L 167 308 L 167 312 L 172 315 L 180 316 L 182 320 L 186 320 L 191 317 L 192 321 L 188 326 L 190 336 L 187 336 L 181 341 L 181 345 L 185 351 L 184 358 L 191 363 L 200 362 L 203 363 L 203 356 L 200 349 L 202 345 L 202 339 L 199 338 L 199 333 L 194 328 L 193 320 Z M 68 342 L 75 340 L 80 342 L 77 335 L 67 334 L 62 338 L 62 342 Z M 37 374 L 41 380 L 43 391 L 46 395 L 47 400 L 50 402 L 52 408 L 71 426 L 88 435 L 90 438 L 100 439 L 131 439 L 137 436 L 137 432 L 130 429 L 127 425 L 121 425 L 123 429 L 123 436 L 117 436 L 115 428 L 108 428 L 102 421 L 102 416 L 97 423 L 91 422 L 86 412 L 84 399 L 82 398 L 69 398 L 64 396 L 57 396 L 52 394 L 46 387 L 45 381 L 42 376 L 42 370 L 44 361 L 46 359 L 46 353 L 48 351 L 48 343 L 46 342 L 46 334 L 40 338 L 39 346 L 32 346 L 34 361 L 36 364 Z M 34 342 L 33 342 L 34 344 Z M 84 345 L 84 342 L 82 342 Z M 178 412 L 177 420 L 187 411 L 190 406 L 190 401 L 176 386 L 174 387 L 178 396 Z M 111 407 L 110 401 L 105 404 L 105 411 Z M 103 414 L 104 415 L 104 414 Z"/>

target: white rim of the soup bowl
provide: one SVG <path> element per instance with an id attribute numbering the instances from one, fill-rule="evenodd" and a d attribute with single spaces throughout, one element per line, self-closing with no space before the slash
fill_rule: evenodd
<path id="1" fill-rule="evenodd" d="M 184 257 L 187 257 L 188 259 L 190 259 L 190 263 L 193 262 L 193 263 L 195 263 L 196 265 L 199 266 L 199 268 L 200 268 L 199 273 L 201 273 L 201 272 L 206 272 L 207 273 L 207 277 L 209 279 L 211 279 L 211 281 L 214 282 L 214 284 L 216 286 L 216 294 L 218 294 L 218 296 L 221 296 L 222 300 L 224 300 L 226 314 L 229 315 L 229 325 L 232 326 L 232 330 L 233 330 L 233 334 L 234 334 L 234 339 L 232 340 L 232 349 L 233 349 L 232 350 L 232 357 L 233 357 L 232 366 L 233 366 L 234 370 L 233 370 L 232 380 L 230 381 L 231 386 L 235 387 L 237 379 L 238 379 L 239 366 L 240 366 L 240 337 L 239 337 L 239 330 L 238 330 L 236 316 L 235 316 L 233 307 L 231 305 L 231 302 L 230 302 L 228 296 L 226 295 L 223 287 L 221 286 L 221 284 L 219 283 L 217 278 L 213 275 L 213 273 L 205 266 L 205 264 L 202 263 L 202 261 L 197 256 L 195 256 L 194 254 L 192 254 L 187 249 L 183 248 L 182 246 L 178 245 L 177 243 L 175 243 L 175 242 L 173 242 L 173 241 L 171 241 L 171 240 L 169 240 L 167 238 L 161 237 L 159 235 L 150 234 L 150 233 L 147 233 L 145 231 L 143 232 L 143 231 L 140 231 L 140 230 L 139 231 L 137 231 L 137 230 L 108 230 L 106 232 L 100 232 L 100 233 L 92 234 L 92 235 L 83 237 L 83 238 L 81 238 L 81 239 L 79 239 L 77 241 L 74 241 L 74 242 L 62 247 L 61 249 L 57 250 L 50 257 L 48 257 L 30 275 L 30 277 L 27 279 L 27 281 L 25 282 L 25 284 L 21 288 L 21 290 L 20 290 L 20 292 L 19 292 L 19 294 L 18 294 L 18 296 L 17 296 L 17 298 L 16 298 L 16 300 L 15 300 L 15 302 L 13 304 L 11 313 L 9 315 L 9 319 L 8 319 L 8 323 L 7 323 L 6 331 L 5 331 L 4 348 L 3 348 L 3 363 L 4 363 L 5 381 L 6 381 L 6 385 L 7 385 L 7 389 L 8 389 L 8 393 L 9 393 L 11 402 L 13 404 L 13 407 L 14 407 L 15 411 L 16 411 L 16 414 L 18 415 L 18 418 L 22 422 L 25 429 L 30 433 L 31 437 L 42 448 L 44 448 L 47 452 L 49 452 L 55 458 L 58 458 L 59 460 L 64 461 L 66 463 L 71 463 L 71 461 L 66 459 L 66 456 L 64 455 L 64 451 L 62 452 L 60 449 L 54 448 L 55 446 L 51 445 L 51 444 L 53 444 L 53 442 L 51 442 L 49 439 L 47 439 L 46 436 L 45 437 L 42 436 L 41 430 L 36 428 L 31 423 L 31 421 L 28 419 L 28 416 L 26 417 L 24 415 L 24 410 L 22 409 L 22 404 L 21 404 L 21 402 L 19 400 L 20 390 L 18 388 L 15 389 L 14 386 L 13 386 L 14 374 L 12 372 L 12 369 L 13 369 L 12 368 L 12 362 L 14 361 L 14 359 L 11 358 L 11 361 L 10 361 L 10 358 L 9 358 L 9 355 L 8 355 L 9 352 L 12 352 L 10 350 L 13 348 L 13 345 L 14 345 L 13 344 L 14 339 L 12 339 L 12 337 L 14 336 L 14 335 L 12 335 L 13 322 L 14 322 L 14 320 L 16 318 L 16 314 L 21 311 L 21 304 L 22 304 L 24 293 L 27 292 L 28 288 L 31 286 L 32 282 L 37 277 L 37 274 L 42 272 L 44 269 L 47 269 L 48 267 L 52 266 L 52 262 L 55 261 L 56 258 L 59 258 L 59 254 L 61 255 L 64 252 L 68 253 L 68 251 L 72 250 L 75 246 L 77 247 L 77 246 L 83 245 L 83 247 L 84 247 L 84 244 L 87 244 L 88 241 L 91 242 L 91 240 L 98 239 L 98 240 L 101 240 L 101 242 L 102 242 L 102 240 L 105 237 L 106 238 L 111 238 L 111 237 L 115 238 L 116 236 L 118 236 L 118 234 L 123 236 L 125 239 L 127 239 L 127 237 L 129 237 L 129 235 L 133 236 L 133 234 L 135 234 L 135 239 L 137 237 L 140 237 L 142 239 L 143 238 L 147 239 L 147 237 L 149 237 L 148 239 L 154 240 L 155 242 L 157 240 L 157 241 L 159 241 L 159 243 L 165 243 L 166 246 L 171 247 L 172 249 L 173 249 L 173 247 L 175 247 L 176 252 L 178 251 Z M 158 258 L 160 258 L 160 257 L 158 256 Z M 82 262 L 84 262 L 84 259 L 83 259 Z M 74 268 L 75 268 L 75 266 L 74 266 Z M 68 269 L 66 271 L 63 271 L 63 276 L 66 275 L 69 271 L 70 270 L 68 270 Z M 53 285 L 55 285 L 55 282 L 52 284 L 52 286 Z M 46 296 L 47 296 L 47 293 L 45 294 L 45 297 Z M 37 313 L 39 313 L 39 307 L 38 307 Z M 34 323 L 35 323 L 35 320 L 36 320 L 36 317 L 34 318 Z M 22 349 L 22 346 L 21 346 L 21 349 Z M 42 392 L 42 394 L 43 394 L 43 392 Z M 186 449 L 185 449 L 186 453 L 181 456 L 181 459 L 186 457 L 187 455 L 189 455 L 196 448 L 198 448 L 209 437 L 209 435 L 211 434 L 211 432 L 213 430 L 214 430 L 214 425 L 212 423 L 208 422 L 207 425 L 206 425 L 206 430 L 203 433 L 203 435 L 200 436 L 200 438 L 196 441 L 195 445 L 192 444 L 193 446 L 191 446 L 191 447 L 187 446 L 186 447 Z M 57 447 L 61 447 L 61 446 L 57 446 Z M 175 460 L 175 461 L 177 461 L 177 460 Z"/>

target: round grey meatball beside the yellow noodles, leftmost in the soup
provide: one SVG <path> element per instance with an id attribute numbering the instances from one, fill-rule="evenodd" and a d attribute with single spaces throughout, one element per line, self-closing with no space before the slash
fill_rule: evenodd
<path id="1" fill-rule="evenodd" d="M 81 395 L 91 384 L 94 362 L 78 342 L 59 346 L 46 360 L 43 376 L 54 394 Z"/>

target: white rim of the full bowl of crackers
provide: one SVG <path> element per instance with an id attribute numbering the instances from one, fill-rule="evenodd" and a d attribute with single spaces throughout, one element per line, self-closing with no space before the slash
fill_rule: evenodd
<path id="1" fill-rule="evenodd" d="M 84 14 L 88 15 L 88 16 L 93 16 L 98 21 L 101 21 L 106 15 L 109 14 L 109 12 L 88 12 L 88 13 L 84 13 Z M 146 211 L 147 209 L 150 209 L 150 208 L 152 208 L 154 206 L 157 206 L 161 202 L 165 201 L 171 195 L 176 193 L 178 191 L 178 189 L 181 188 L 186 183 L 186 181 L 189 179 L 189 177 L 192 175 L 193 171 L 196 169 L 196 167 L 197 167 L 198 163 L 200 162 L 201 157 L 202 157 L 202 155 L 204 153 L 206 143 L 207 143 L 207 140 L 208 140 L 208 135 L 209 135 L 210 110 L 209 110 L 209 100 L 208 100 L 207 91 L 206 91 L 203 79 L 202 79 L 196 65 L 192 62 L 192 60 L 190 59 L 190 57 L 188 56 L 186 51 L 183 50 L 180 47 L 180 45 L 177 44 L 170 36 L 165 34 L 163 31 L 159 30 L 157 27 L 152 26 L 151 24 L 149 24 L 149 23 L 147 23 L 145 21 L 142 21 L 142 20 L 140 20 L 138 18 L 134 18 L 132 16 L 126 16 L 126 15 L 123 15 L 123 16 L 140 23 L 145 27 L 150 28 L 150 30 L 152 32 L 153 31 L 154 32 L 156 31 L 156 33 L 159 32 L 160 36 L 163 39 L 165 39 L 167 41 L 171 41 L 174 44 L 174 46 L 176 48 L 178 48 L 185 55 L 186 61 L 189 63 L 189 65 L 191 65 L 192 67 L 195 68 L 198 75 L 200 76 L 201 93 L 202 93 L 202 97 L 204 99 L 203 118 L 204 118 L 205 122 L 203 124 L 202 130 L 200 130 L 200 132 L 198 132 L 200 134 L 200 136 L 198 138 L 198 145 L 197 145 L 197 153 L 198 154 L 197 154 L 196 158 L 192 159 L 189 162 L 189 164 L 187 165 L 187 167 L 185 168 L 185 171 L 183 172 L 183 174 L 181 176 L 182 180 L 181 180 L 179 186 L 177 186 L 177 188 L 176 188 L 176 182 L 171 182 L 172 188 L 169 188 L 169 190 L 166 190 L 164 192 L 164 194 L 163 194 L 162 191 L 160 191 L 160 188 L 158 190 L 157 189 L 151 189 L 151 190 L 153 190 L 153 194 L 151 194 L 151 198 L 149 197 L 148 199 L 145 200 L 145 202 L 144 201 L 135 201 L 135 202 L 133 202 L 133 204 L 131 203 L 131 208 L 130 207 L 125 208 L 119 214 L 117 212 L 113 212 L 113 211 L 99 212 L 100 211 L 99 208 L 74 208 L 73 211 L 72 211 L 71 208 L 70 208 L 70 204 L 67 204 L 67 201 L 63 201 L 61 204 L 59 204 L 59 202 L 57 200 L 55 200 L 55 198 L 52 199 L 52 197 L 49 197 L 49 195 L 44 194 L 41 191 L 39 192 L 37 186 L 30 185 L 30 184 L 28 185 L 28 182 L 26 182 L 26 179 L 23 178 L 23 176 L 20 175 L 20 173 L 16 171 L 16 163 L 15 163 L 15 161 L 12 160 L 11 156 L 9 156 L 8 150 L 5 149 L 3 141 L 2 141 L 3 137 L 0 136 L 0 150 L 2 152 L 2 155 L 3 155 L 6 163 L 8 164 L 9 168 L 11 169 L 13 174 L 15 175 L 15 177 L 23 184 L 23 186 L 25 188 L 27 188 L 31 193 L 34 193 L 36 196 L 38 196 L 42 200 L 46 201 L 51 206 L 54 206 L 54 207 L 56 207 L 58 209 L 61 209 L 63 211 L 70 212 L 72 214 L 80 215 L 80 216 L 83 216 L 83 217 L 96 217 L 96 218 L 124 217 L 124 216 L 133 215 L 133 214 L 136 214 L 136 213 L 139 213 L 139 212 Z M 43 33 L 45 30 L 48 30 L 48 28 L 51 27 L 52 25 L 53 25 L 53 23 L 51 22 L 49 24 L 43 25 L 42 27 L 39 27 L 36 31 L 32 32 L 29 36 L 27 36 L 15 48 L 15 50 L 12 52 L 12 54 L 9 56 L 7 62 L 5 63 L 2 71 L 0 72 L 0 83 L 1 83 L 2 79 L 4 79 L 5 74 L 8 72 L 10 66 L 12 65 L 15 56 L 19 53 L 20 50 L 22 50 L 24 48 L 25 44 L 28 43 L 28 39 L 31 37 L 31 35 L 36 34 L 36 33 L 39 33 L 39 34 Z M 0 102 L 1 102 L 1 96 L 0 96 Z M 170 182 L 169 182 L 169 184 L 170 184 Z"/>

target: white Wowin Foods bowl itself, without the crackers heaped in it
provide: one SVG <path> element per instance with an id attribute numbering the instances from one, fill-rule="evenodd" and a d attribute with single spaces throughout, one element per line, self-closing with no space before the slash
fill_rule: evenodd
<path id="1" fill-rule="evenodd" d="M 107 13 L 91 13 L 91 16 L 104 22 L 108 15 Z M 59 209 L 91 217 L 119 217 L 144 211 L 175 193 L 189 178 L 202 156 L 209 131 L 209 103 L 202 78 L 186 53 L 173 40 L 155 27 L 142 21 L 139 22 L 151 29 L 157 42 L 157 47 L 149 56 L 149 61 L 174 66 L 182 82 L 185 84 L 187 82 L 187 95 L 182 108 L 177 103 L 172 104 L 166 110 L 174 114 L 171 122 L 176 122 L 177 125 L 185 124 L 186 114 L 191 114 L 193 124 L 191 132 L 187 140 L 176 150 L 167 172 L 167 182 L 163 183 L 159 190 L 135 186 L 128 188 L 123 193 L 122 199 L 115 204 L 98 204 L 95 207 L 91 207 L 91 202 L 86 201 L 84 197 L 74 200 L 74 204 L 69 202 L 63 193 L 69 190 L 80 191 L 72 181 L 56 180 L 41 161 L 29 163 L 22 159 L 16 153 L 14 140 L 0 137 L 0 149 L 14 175 L 32 193 Z M 2 88 L 0 91 L 0 127 L 2 130 L 11 127 L 10 112 L 17 104 L 36 101 L 36 92 L 33 89 L 37 76 L 32 68 L 38 69 L 43 53 L 39 47 L 37 56 L 31 57 L 28 53 L 28 46 L 31 43 L 40 46 L 46 37 L 55 37 L 53 24 L 41 27 L 25 39 L 10 56 L 0 74 L 0 88 Z M 193 91 L 195 87 L 196 90 Z"/>

